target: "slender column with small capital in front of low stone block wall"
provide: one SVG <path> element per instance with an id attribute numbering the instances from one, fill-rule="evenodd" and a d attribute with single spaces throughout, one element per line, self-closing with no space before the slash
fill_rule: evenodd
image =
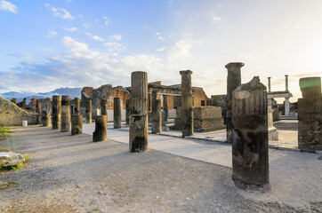
<path id="1" fill-rule="evenodd" d="M 190 70 L 180 71 L 181 75 L 181 132 L 182 137 L 193 135 L 193 102 Z"/>

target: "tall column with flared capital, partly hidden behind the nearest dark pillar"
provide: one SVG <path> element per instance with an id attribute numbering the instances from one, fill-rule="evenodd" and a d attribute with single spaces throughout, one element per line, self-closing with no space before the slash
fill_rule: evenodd
<path id="1" fill-rule="evenodd" d="M 232 126 L 231 126 L 231 99 L 232 91 L 234 91 L 241 83 L 240 68 L 244 67 L 244 63 L 233 62 L 225 66 L 228 70 L 227 75 L 227 112 L 226 112 L 226 130 L 227 141 L 232 142 Z"/>

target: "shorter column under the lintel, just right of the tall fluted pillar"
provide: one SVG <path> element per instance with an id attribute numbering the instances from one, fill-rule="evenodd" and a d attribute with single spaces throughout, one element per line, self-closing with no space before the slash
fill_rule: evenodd
<path id="1" fill-rule="evenodd" d="M 162 131 L 161 99 L 157 91 L 152 91 L 152 133 Z"/>

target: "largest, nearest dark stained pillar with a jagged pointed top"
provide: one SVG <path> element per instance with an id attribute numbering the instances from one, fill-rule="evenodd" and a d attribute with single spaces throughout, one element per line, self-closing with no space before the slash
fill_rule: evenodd
<path id="1" fill-rule="evenodd" d="M 242 189 L 269 189 L 266 87 L 255 76 L 232 95 L 232 179 Z"/>

